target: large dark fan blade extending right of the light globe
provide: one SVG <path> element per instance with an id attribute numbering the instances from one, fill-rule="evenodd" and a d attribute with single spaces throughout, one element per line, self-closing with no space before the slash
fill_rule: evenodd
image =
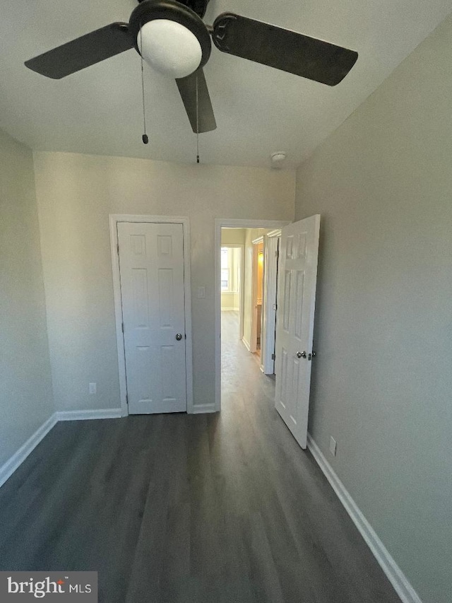
<path id="1" fill-rule="evenodd" d="M 354 50 L 233 13 L 215 19 L 212 37 L 222 52 L 328 86 L 342 81 L 358 58 Z"/>

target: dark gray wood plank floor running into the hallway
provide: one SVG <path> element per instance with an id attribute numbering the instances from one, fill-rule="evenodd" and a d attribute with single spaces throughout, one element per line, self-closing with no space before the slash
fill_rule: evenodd
<path id="1" fill-rule="evenodd" d="M 0 570 L 97 570 L 102 603 L 400 603 L 236 320 L 221 414 L 52 429 L 0 489 Z"/>

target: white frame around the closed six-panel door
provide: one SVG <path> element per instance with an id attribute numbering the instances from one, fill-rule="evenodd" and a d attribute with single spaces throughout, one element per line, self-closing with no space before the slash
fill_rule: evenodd
<path id="1" fill-rule="evenodd" d="M 129 414 L 127 406 L 126 385 L 126 356 L 124 351 L 124 336 L 122 333 L 122 303 L 121 303 L 121 281 L 119 279 L 119 253 L 118 253 L 118 222 L 153 222 L 167 224 L 182 224 L 184 233 L 184 312 L 185 312 L 185 334 L 186 334 L 186 411 L 194 412 L 193 406 L 193 358 L 191 350 L 191 281 L 190 281 L 190 222 L 189 218 L 181 216 L 140 216 L 127 213 L 110 213 L 110 247 L 112 252 L 113 293 L 114 293 L 114 316 L 116 322 L 116 340 L 118 349 L 119 365 L 119 394 L 121 396 L 121 414 Z"/>

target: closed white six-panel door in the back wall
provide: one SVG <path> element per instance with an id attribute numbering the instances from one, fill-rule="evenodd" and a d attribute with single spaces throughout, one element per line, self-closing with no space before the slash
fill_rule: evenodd
<path id="1" fill-rule="evenodd" d="M 117 229 L 129 414 L 186 411 L 182 224 Z"/>

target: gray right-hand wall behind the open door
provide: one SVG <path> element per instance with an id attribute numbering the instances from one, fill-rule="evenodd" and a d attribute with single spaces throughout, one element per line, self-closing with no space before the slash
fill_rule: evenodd
<path id="1" fill-rule="evenodd" d="M 424 603 L 452 593 L 451 38 L 297 170 L 295 211 L 322 219 L 309 431 Z"/>

